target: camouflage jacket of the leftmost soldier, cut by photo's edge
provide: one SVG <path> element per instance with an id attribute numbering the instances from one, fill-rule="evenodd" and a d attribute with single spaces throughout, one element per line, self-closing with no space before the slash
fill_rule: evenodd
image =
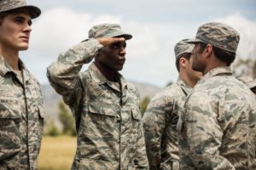
<path id="1" fill-rule="evenodd" d="M 44 125 L 38 81 L 19 62 L 23 80 L 0 56 L 0 169 L 37 169 Z"/>

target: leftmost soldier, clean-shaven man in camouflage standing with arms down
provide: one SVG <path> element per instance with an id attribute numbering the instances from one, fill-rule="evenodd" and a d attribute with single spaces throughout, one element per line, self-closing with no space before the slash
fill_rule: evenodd
<path id="1" fill-rule="evenodd" d="M 25 0 L 0 1 L 0 169 L 37 169 L 44 124 L 41 88 L 20 60 L 32 19 Z"/>

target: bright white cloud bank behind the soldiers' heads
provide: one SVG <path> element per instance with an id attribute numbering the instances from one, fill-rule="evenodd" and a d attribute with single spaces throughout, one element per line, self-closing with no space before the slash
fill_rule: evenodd
<path id="1" fill-rule="evenodd" d="M 239 54 L 255 57 L 256 23 L 234 14 L 217 19 L 234 26 L 241 33 Z M 195 37 L 197 25 L 188 23 L 140 23 L 123 20 L 109 14 L 79 13 L 68 8 L 52 8 L 44 11 L 32 26 L 32 42 L 24 58 L 28 68 L 39 81 L 46 83 L 45 68 L 67 48 L 88 37 L 91 26 L 99 23 L 119 23 L 123 31 L 133 38 L 127 42 L 122 74 L 129 80 L 149 82 L 161 87 L 176 81 L 177 70 L 173 47 L 183 38 Z M 206 21 L 208 22 L 208 20 Z M 40 65 L 35 65 L 35 62 Z"/>

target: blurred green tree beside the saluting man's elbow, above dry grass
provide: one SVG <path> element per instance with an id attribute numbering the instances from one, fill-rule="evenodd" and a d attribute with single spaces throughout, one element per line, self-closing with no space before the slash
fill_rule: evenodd
<path id="1" fill-rule="evenodd" d="M 75 122 L 71 111 L 61 100 L 59 102 L 59 119 L 62 124 L 62 133 L 67 135 L 76 135 Z"/>

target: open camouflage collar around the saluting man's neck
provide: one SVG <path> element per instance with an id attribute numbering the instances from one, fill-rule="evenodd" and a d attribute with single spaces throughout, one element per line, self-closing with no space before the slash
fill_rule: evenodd
<path id="1" fill-rule="evenodd" d="M 89 66 L 89 72 L 92 79 L 98 83 L 99 85 L 102 85 L 104 83 L 107 83 L 108 86 L 113 88 L 112 84 L 113 82 L 108 81 L 106 77 L 102 74 L 102 72 L 96 67 L 94 63 L 92 63 Z M 122 91 L 124 92 L 124 89 L 127 87 L 127 82 L 125 81 L 124 77 L 122 77 L 121 74 L 118 73 L 119 80 L 121 82 Z M 114 88 L 115 90 L 119 91 L 119 89 Z"/>

